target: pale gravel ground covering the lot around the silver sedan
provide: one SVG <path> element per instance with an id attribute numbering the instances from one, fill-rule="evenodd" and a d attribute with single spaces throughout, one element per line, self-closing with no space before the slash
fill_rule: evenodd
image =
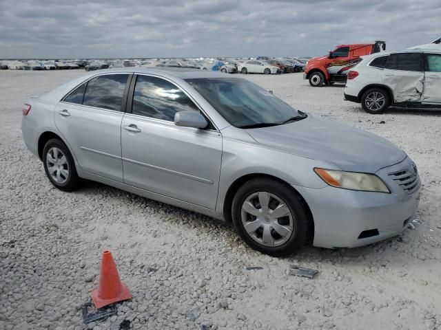
<path id="1" fill-rule="evenodd" d="M 93 182 L 54 188 L 21 138 L 21 104 L 82 74 L 0 72 L 0 330 L 110 329 L 124 319 L 134 329 L 441 329 L 440 111 L 369 115 L 342 100 L 342 87 L 309 87 L 301 74 L 246 76 L 311 115 L 386 137 L 423 182 L 418 221 L 402 236 L 276 259 L 200 214 Z M 85 326 L 80 308 L 105 249 L 133 299 Z M 288 275 L 291 264 L 320 274 Z"/>

